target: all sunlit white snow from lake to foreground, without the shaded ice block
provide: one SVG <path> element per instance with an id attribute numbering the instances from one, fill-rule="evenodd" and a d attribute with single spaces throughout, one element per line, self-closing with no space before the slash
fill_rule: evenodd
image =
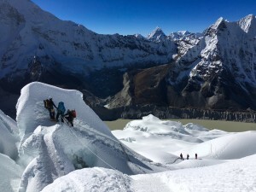
<path id="1" fill-rule="evenodd" d="M 191 139 L 184 142 L 183 137 L 172 138 L 174 132 L 177 136 L 188 134 L 190 137 L 201 137 L 202 141 Z M 43 191 L 256 190 L 254 171 L 256 150 L 253 148 L 256 143 L 256 131 L 240 133 L 208 131 L 201 125 L 182 125 L 148 115 L 141 120 L 131 121 L 123 131 L 113 131 L 113 135 L 137 152 L 158 159 L 158 162 L 171 171 L 127 176 L 113 170 L 94 167 L 59 177 Z M 208 146 L 209 143 L 211 148 Z M 195 160 L 194 156 L 190 156 L 189 160 L 178 160 L 176 156 L 175 162 L 168 162 L 167 156 L 163 155 L 169 154 L 167 158 L 173 158 L 175 156 L 173 154 L 179 155 L 181 151 L 184 156 L 186 153 L 192 156 L 196 151 L 200 159 Z"/>

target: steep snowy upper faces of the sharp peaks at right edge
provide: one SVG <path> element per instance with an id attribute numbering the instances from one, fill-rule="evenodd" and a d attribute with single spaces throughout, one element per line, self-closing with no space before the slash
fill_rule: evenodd
<path id="1" fill-rule="evenodd" d="M 225 69 L 230 71 L 240 84 L 249 83 L 256 86 L 255 30 L 253 15 L 248 15 L 238 22 L 218 19 L 207 29 L 205 38 L 202 39 L 205 42 L 205 48 L 201 50 L 202 59 L 190 76 L 208 79 Z"/>

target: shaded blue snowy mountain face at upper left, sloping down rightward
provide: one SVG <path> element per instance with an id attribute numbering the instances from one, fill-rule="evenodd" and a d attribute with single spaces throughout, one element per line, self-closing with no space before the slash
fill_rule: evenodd
<path id="1" fill-rule="evenodd" d="M 134 36 L 96 34 L 57 19 L 31 1 L 1 0 L 0 7 L 0 78 L 15 71 L 15 79 L 30 71 L 34 55 L 43 71 L 56 67 L 84 75 L 88 69 L 165 63 L 175 52 L 173 42 L 165 47 Z"/>

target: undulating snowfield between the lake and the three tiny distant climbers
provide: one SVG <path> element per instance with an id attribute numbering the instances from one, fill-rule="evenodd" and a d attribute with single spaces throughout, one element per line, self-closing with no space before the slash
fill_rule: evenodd
<path id="1" fill-rule="evenodd" d="M 128 123 L 123 131 L 112 131 L 120 141 L 150 160 L 166 163 L 160 153 L 179 156 L 199 154 L 210 160 L 231 160 L 256 154 L 256 131 L 230 133 L 209 131 L 201 125 L 162 121 L 153 115 Z M 161 141 L 161 142 L 159 142 Z M 244 142 L 246 141 L 246 142 Z M 150 148 L 150 150 L 148 150 Z M 153 150 L 157 153 L 150 153 Z M 175 159 L 175 158 L 174 158 Z M 163 160 L 163 161 L 161 161 Z M 169 161 L 172 159 L 169 158 Z"/>

